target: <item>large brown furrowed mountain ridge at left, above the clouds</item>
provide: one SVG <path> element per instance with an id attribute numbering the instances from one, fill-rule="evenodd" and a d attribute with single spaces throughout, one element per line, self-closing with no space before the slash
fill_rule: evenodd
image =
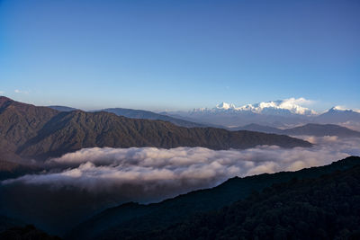
<path id="1" fill-rule="evenodd" d="M 0 158 L 46 159 L 85 147 L 311 147 L 297 138 L 251 131 L 184 128 L 113 113 L 57 111 L 0 97 Z"/>

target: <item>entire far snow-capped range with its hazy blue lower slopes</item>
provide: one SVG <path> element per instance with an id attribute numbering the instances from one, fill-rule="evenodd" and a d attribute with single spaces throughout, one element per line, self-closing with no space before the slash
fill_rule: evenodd
<path id="1" fill-rule="evenodd" d="M 324 113 L 318 113 L 302 107 L 301 103 L 307 101 L 300 99 L 287 99 L 283 101 L 260 102 L 236 107 L 234 104 L 221 102 L 216 107 L 194 109 L 193 111 L 163 112 L 168 116 L 191 120 L 194 122 L 207 122 L 208 124 L 222 125 L 233 128 L 247 124 L 260 124 L 271 127 L 289 127 L 307 123 L 360 125 L 360 112 L 333 107 Z"/>

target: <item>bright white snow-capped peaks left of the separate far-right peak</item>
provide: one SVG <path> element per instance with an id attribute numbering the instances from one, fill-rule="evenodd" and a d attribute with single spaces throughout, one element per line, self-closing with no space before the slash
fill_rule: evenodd
<path id="1" fill-rule="evenodd" d="M 306 107 L 301 106 L 301 103 L 309 103 L 310 101 L 304 98 L 290 98 L 279 101 L 270 101 L 270 102 L 259 102 L 256 104 L 246 104 L 243 106 L 236 107 L 233 103 L 221 102 L 212 109 L 201 108 L 194 109 L 193 113 L 196 112 L 253 112 L 258 114 L 266 115 L 286 115 L 286 114 L 299 114 L 299 115 L 316 115 L 317 112 Z"/>

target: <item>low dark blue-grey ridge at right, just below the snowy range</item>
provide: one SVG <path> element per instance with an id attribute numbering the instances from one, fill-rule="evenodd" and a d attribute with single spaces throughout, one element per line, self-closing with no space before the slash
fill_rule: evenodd
<path id="1" fill-rule="evenodd" d="M 292 129 L 276 129 L 274 127 L 263 126 L 258 124 L 248 124 L 243 127 L 233 128 L 233 130 L 248 130 L 259 131 L 266 133 L 284 134 L 290 136 L 337 136 L 339 138 L 360 138 L 360 132 L 347 129 L 335 124 L 315 124 L 308 123 L 304 126 L 292 128 Z"/>

